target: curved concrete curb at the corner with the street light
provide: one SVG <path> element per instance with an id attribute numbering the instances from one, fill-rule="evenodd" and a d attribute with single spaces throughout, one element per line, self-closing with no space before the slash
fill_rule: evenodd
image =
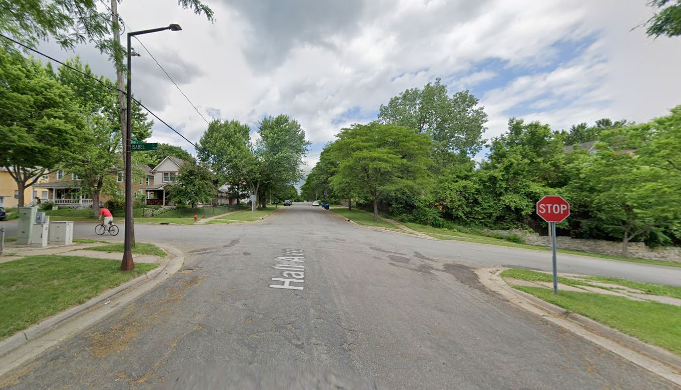
<path id="1" fill-rule="evenodd" d="M 0 341 L 0 357 L 3 357 L 12 351 L 14 351 L 16 348 L 22 346 L 22 344 L 25 344 L 31 340 L 35 340 L 39 338 L 40 336 L 43 336 L 44 334 L 49 333 L 50 331 L 56 329 L 63 323 L 66 323 L 67 321 L 74 319 L 76 316 L 79 314 L 86 312 L 86 310 L 89 310 L 90 308 L 93 308 L 93 306 L 96 306 L 97 304 L 101 304 L 102 302 L 105 302 L 106 300 L 119 295 L 123 293 L 127 293 L 131 291 L 133 288 L 138 287 L 139 285 L 142 285 L 142 283 L 151 280 L 155 277 L 157 277 L 161 272 L 165 271 L 168 269 L 170 265 L 176 265 L 176 263 L 180 263 L 180 266 L 184 262 L 184 255 L 181 253 L 179 250 L 176 250 L 174 248 L 167 248 L 159 245 L 159 247 L 163 248 L 168 253 L 172 253 L 175 255 L 171 259 L 165 262 L 165 264 L 155 268 L 154 270 L 151 270 L 147 272 L 144 275 L 140 275 L 137 278 L 134 278 L 132 280 L 128 280 L 127 282 L 123 283 L 123 285 L 120 285 L 118 287 L 114 287 L 113 289 L 110 289 L 108 291 L 104 291 L 104 293 L 101 293 L 97 297 L 91 298 L 89 301 L 85 302 L 84 304 L 74 306 L 73 308 L 69 308 L 67 310 L 64 310 L 63 312 L 59 312 L 57 314 L 54 314 L 54 316 L 50 316 L 47 319 L 44 319 L 43 321 L 32 325 L 31 327 L 28 327 L 27 329 L 24 329 L 22 331 L 18 331 L 16 334 L 13 336 L 10 336 L 9 338 L 6 338 L 5 340 Z M 177 270 L 180 267 L 176 267 L 176 270 L 172 271 L 172 274 L 177 272 Z M 168 275 L 170 276 L 170 275 Z M 0 375 L 2 373 L 0 372 Z"/>

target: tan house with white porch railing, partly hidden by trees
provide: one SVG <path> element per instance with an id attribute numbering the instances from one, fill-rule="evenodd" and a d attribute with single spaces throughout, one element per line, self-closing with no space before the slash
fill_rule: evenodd
<path id="1" fill-rule="evenodd" d="M 133 192 L 139 193 L 140 197 L 144 196 L 142 187 L 153 184 L 151 181 L 153 176 L 151 169 L 146 165 L 138 167 L 142 170 L 142 175 L 136 175 L 138 178 L 133 178 Z M 116 178 L 118 189 L 121 193 L 125 191 L 125 180 L 123 171 L 112 173 L 111 176 Z M 41 201 L 51 201 L 56 206 L 66 206 L 71 208 L 89 208 L 92 207 L 92 199 L 89 194 L 82 193 L 80 189 L 80 178 L 73 172 L 68 172 L 65 169 L 57 169 L 42 176 L 42 180 L 33 185 L 33 199 L 38 197 Z M 104 203 L 110 196 L 100 195 L 99 202 Z"/>

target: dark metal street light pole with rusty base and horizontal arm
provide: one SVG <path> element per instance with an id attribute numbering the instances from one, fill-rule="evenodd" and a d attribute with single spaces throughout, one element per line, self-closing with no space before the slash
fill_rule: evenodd
<path id="1" fill-rule="evenodd" d="M 127 120 L 125 121 L 125 249 L 123 250 L 123 261 L 121 261 L 121 271 L 129 271 L 135 268 L 135 263 L 132 259 L 131 238 L 133 228 L 133 209 L 132 209 L 132 150 L 130 149 L 130 139 L 132 138 L 132 110 L 130 105 L 132 103 L 132 61 L 130 39 L 135 35 L 142 35 L 148 33 L 156 33 L 157 31 L 171 30 L 180 31 L 180 25 L 169 25 L 168 27 L 159 27 L 157 29 L 149 29 L 142 31 L 132 31 L 127 33 Z"/>

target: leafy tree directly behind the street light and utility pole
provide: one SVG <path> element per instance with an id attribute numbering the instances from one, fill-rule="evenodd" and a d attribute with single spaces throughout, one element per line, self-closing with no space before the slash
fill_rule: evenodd
<path id="1" fill-rule="evenodd" d="M 116 93 L 106 88 L 113 85 L 107 78 L 99 77 L 99 81 L 106 86 L 94 80 L 96 77 L 89 65 L 84 65 L 78 57 L 66 63 L 90 77 L 65 66 L 59 67 L 58 79 L 74 92 L 78 112 L 84 122 L 80 135 L 83 142 L 78 154 L 69 159 L 64 167 L 78 175 L 80 190 L 93 199 L 93 214 L 97 216 L 100 195 L 116 193 L 118 185 L 112 174 L 119 172 L 123 166 Z M 146 112 L 139 107 L 133 108 L 132 130 L 138 140 L 144 141 L 151 135 L 152 125 L 153 121 L 146 120 Z"/>

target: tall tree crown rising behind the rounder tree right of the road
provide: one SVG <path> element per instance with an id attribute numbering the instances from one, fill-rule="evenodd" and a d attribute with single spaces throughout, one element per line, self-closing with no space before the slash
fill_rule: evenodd
<path id="1" fill-rule="evenodd" d="M 487 114 L 469 91 L 447 96 L 447 86 L 436 79 L 424 88 L 411 88 L 392 97 L 379 111 L 384 124 L 406 126 L 428 133 L 437 159 L 449 154 L 473 156 L 483 145 Z M 444 162 L 444 161 L 442 161 Z"/>

